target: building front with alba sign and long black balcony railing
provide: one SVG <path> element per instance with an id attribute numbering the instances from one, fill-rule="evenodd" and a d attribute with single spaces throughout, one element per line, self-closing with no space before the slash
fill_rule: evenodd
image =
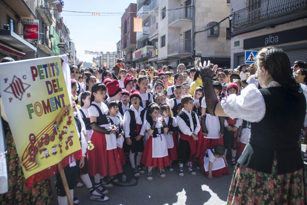
<path id="1" fill-rule="evenodd" d="M 231 0 L 231 68 L 245 64 L 246 50 L 274 46 L 290 63 L 307 62 L 307 2 L 304 0 Z"/>

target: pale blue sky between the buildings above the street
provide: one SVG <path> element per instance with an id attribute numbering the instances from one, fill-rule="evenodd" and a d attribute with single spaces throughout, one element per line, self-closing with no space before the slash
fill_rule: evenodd
<path id="1" fill-rule="evenodd" d="M 63 10 L 124 13 L 131 2 L 136 3 L 136 0 L 64 0 Z M 76 57 L 79 61 L 92 62 L 92 58 L 95 57 L 84 54 L 85 50 L 103 53 L 116 51 L 116 43 L 121 36 L 119 27 L 122 14 L 91 15 L 62 11 L 60 15 L 70 31 L 70 38 L 75 43 Z"/>

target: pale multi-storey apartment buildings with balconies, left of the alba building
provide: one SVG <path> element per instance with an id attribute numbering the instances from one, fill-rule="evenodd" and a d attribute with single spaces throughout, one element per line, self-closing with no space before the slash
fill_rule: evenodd
<path id="1" fill-rule="evenodd" d="M 176 72 L 180 63 L 191 68 L 195 57 L 201 57 L 202 61 L 210 59 L 220 67 L 230 67 L 229 21 L 199 32 L 229 16 L 226 0 L 138 0 L 137 4 L 143 32 L 136 34 L 136 66 L 161 69 L 172 65 Z"/>

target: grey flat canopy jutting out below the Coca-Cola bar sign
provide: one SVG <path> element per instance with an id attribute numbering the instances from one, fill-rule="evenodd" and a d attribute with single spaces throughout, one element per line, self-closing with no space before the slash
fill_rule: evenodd
<path id="1" fill-rule="evenodd" d="M 0 43 L 12 47 L 19 52 L 37 51 L 37 48 L 11 30 L 0 30 Z"/>

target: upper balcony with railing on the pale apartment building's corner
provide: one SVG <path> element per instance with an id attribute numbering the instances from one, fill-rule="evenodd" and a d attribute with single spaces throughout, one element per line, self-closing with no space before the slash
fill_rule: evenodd
<path id="1" fill-rule="evenodd" d="M 188 23 L 192 23 L 193 7 L 177 6 L 169 12 L 169 27 L 182 27 Z"/>

